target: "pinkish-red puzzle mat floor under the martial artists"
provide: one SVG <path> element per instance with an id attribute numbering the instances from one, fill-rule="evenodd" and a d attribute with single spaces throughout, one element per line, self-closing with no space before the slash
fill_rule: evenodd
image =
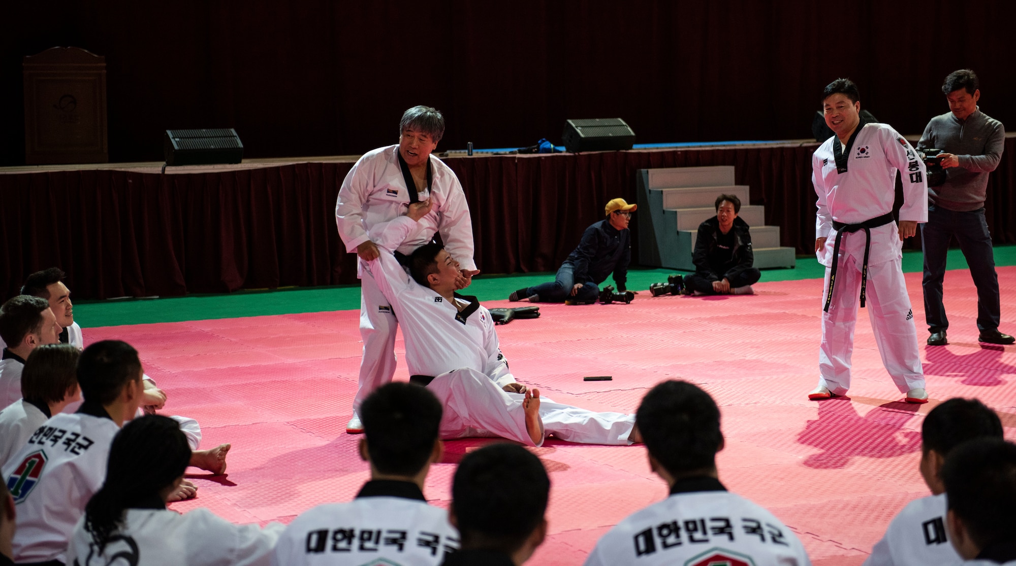
<path id="1" fill-rule="evenodd" d="M 1003 332 L 1016 332 L 1016 267 L 999 269 Z M 976 397 L 1016 427 L 1016 347 L 978 345 L 965 271 L 946 277 L 951 344 L 927 347 L 920 274 L 906 276 L 932 402 L 900 403 L 860 313 L 849 399 L 809 402 L 817 377 L 820 280 L 762 283 L 754 296 L 651 297 L 631 304 L 541 305 L 538 320 L 499 327 L 519 381 L 555 401 L 633 412 L 647 387 L 683 377 L 719 404 L 720 480 L 771 509 L 815 564 L 861 564 L 889 519 L 927 495 L 917 472 L 923 415 Z M 507 301 L 488 303 L 505 306 Z M 239 314 L 239 313 L 238 313 Z M 351 499 L 368 478 L 359 437 L 344 433 L 357 386 L 359 311 L 251 316 L 85 330 L 126 340 L 169 395 L 165 413 L 197 419 L 203 443 L 232 442 L 229 475 L 196 475 L 198 498 L 237 522 L 288 522 Z M 398 355 L 401 358 L 402 342 Z M 583 381 L 613 375 L 613 381 Z M 399 366 L 396 379 L 407 379 Z M 447 506 L 455 463 L 488 439 L 449 441 L 425 493 Z M 550 536 L 530 564 L 580 564 L 596 539 L 666 495 L 641 446 L 549 440 Z"/>

